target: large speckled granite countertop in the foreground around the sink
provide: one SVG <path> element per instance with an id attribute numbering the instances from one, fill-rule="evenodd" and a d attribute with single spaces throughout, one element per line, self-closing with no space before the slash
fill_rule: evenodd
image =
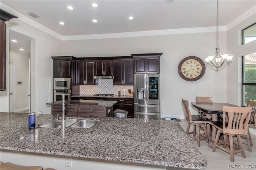
<path id="1" fill-rule="evenodd" d="M 39 126 L 53 120 L 39 115 Z M 112 117 L 91 128 L 28 129 L 28 114 L 0 113 L 0 149 L 204 169 L 207 161 L 176 121 Z"/>

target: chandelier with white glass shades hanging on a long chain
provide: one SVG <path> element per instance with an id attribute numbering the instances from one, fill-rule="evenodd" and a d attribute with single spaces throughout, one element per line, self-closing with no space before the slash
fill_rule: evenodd
<path id="1" fill-rule="evenodd" d="M 226 63 L 231 63 L 231 60 L 234 55 L 223 54 L 220 55 L 220 47 L 219 47 L 219 1 L 217 0 L 217 47 L 215 48 L 216 54 L 206 57 L 204 60 L 206 64 L 211 65 L 212 67 L 216 67 L 219 69 Z"/>

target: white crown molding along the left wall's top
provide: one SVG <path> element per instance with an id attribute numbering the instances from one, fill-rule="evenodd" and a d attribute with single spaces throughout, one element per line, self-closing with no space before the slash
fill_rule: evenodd
<path id="1" fill-rule="evenodd" d="M 13 15 L 17 16 L 18 20 L 21 20 L 21 21 L 23 21 L 23 22 L 25 22 L 25 23 L 27 23 L 27 24 L 29 24 L 29 25 L 31 25 L 31 26 L 33 26 L 33 27 L 45 32 L 45 33 L 47 33 L 47 34 L 50 34 L 51 36 L 54 36 L 54 37 L 62 40 L 62 35 L 50 30 L 49 28 L 43 26 L 42 24 L 39 24 L 38 22 L 32 20 L 31 18 L 25 16 L 24 14 L 21 14 L 20 12 L 10 8 L 9 6 L 7 6 L 7 5 L 5 5 L 1 2 L 0 2 L 0 8 L 2 10 L 5 10 L 6 12 L 9 12 L 10 14 L 13 14 Z"/>

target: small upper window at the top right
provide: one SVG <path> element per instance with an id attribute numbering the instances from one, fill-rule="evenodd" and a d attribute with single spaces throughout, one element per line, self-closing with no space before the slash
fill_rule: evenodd
<path id="1" fill-rule="evenodd" d="M 256 23 L 242 30 L 242 44 L 256 40 Z"/>

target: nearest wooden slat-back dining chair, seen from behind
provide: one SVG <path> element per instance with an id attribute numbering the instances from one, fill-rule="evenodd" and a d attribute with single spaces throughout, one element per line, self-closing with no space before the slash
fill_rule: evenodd
<path id="1" fill-rule="evenodd" d="M 212 152 L 215 152 L 216 147 L 230 154 L 230 161 L 234 162 L 234 154 L 241 152 L 242 157 L 246 158 L 244 147 L 241 140 L 241 134 L 247 134 L 248 123 L 252 112 L 252 107 L 228 107 L 223 106 L 222 122 L 212 122 L 212 125 L 218 129 Z M 219 141 L 220 133 L 224 134 L 224 140 Z M 227 140 L 228 136 L 228 140 Z M 237 136 L 238 145 L 233 144 L 233 137 Z M 223 145 L 223 147 L 221 146 Z M 229 150 L 226 149 L 229 146 Z"/>

